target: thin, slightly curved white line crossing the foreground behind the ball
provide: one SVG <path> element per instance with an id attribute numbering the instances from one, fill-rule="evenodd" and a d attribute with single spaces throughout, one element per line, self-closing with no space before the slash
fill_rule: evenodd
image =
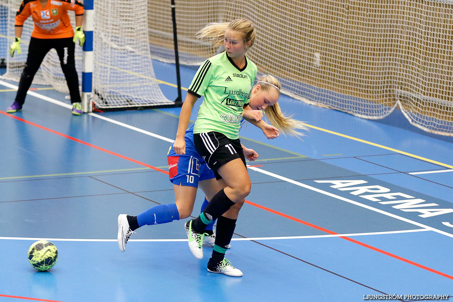
<path id="1" fill-rule="evenodd" d="M 386 231 L 386 232 L 370 232 L 370 233 L 354 233 L 354 234 L 335 234 L 335 235 L 306 235 L 306 236 L 284 236 L 284 237 L 255 237 L 255 238 L 232 238 L 234 241 L 246 241 L 246 240 L 277 240 L 277 239 L 301 239 L 301 238 L 324 238 L 324 237 L 350 237 L 350 236 L 362 236 L 362 235 L 382 235 L 382 234 L 398 234 L 398 233 L 414 233 L 424 232 L 428 229 L 416 229 L 416 230 L 399 230 L 399 231 Z M 0 237 L 5 240 L 48 240 L 48 241 L 95 241 L 95 242 L 115 242 L 116 239 L 65 239 L 65 238 L 28 238 L 28 237 Z M 129 241 L 140 241 L 140 242 L 163 242 L 163 241 L 187 241 L 187 239 L 130 239 Z"/>

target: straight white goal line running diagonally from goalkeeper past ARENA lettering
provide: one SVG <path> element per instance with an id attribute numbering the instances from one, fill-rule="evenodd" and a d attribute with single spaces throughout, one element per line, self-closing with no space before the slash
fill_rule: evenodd
<path id="1" fill-rule="evenodd" d="M 6 87 L 10 87 L 10 88 L 13 88 L 13 87 L 14 87 L 15 89 L 17 89 L 17 86 L 12 85 L 12 84 L 10 84 L 10 83 L 7 83 L 7 82 L 5 82 L 5 81 L 1 81 L 1 80 L 0 80 L 0 84 L 4 85 L 4 86 L 6 86 Z M 51 103 L 53 103 L 53 104 L 60 105 L 60 106 L 63 106 L 63 107 L 65 107 L 65 108 L 69 108 L 69 109 L 72 108 L 71 105 L 68 105 L 68 104 L 66 104 L 66 103 L 63 103 L 63 102 L 61 102 L 61 101 L 54 100 L 54 99 L 52 99 L 52 98 L 50 98 L 50 97 L 47 97 L 47 96 L 40 95 L 39 93 L 36 93 L 36 92 L 34 92 L 34 91 L 28 91 L 27 93 L 30 94 L 30 95 L 32 95 L 32 96 L 35 96 L 35 97 L 37 97 L 37 98 L 40 98 L 40 99 L 42 99 L 42 100 L 44 100 L 44 101 L 49 101 L 49 102 L 51 102 Z M 101 115 L 97 115 L 97 114 L 94 114 L 94 113 L 89 113 L 89 115 L 94 116 L 94 117 L 97 117 L 97 118 L 101 118 L 102 120 L 106 120 L 106 121 L 111 122 L 111 123 L 115 123 L 116 125 L 124 126 L 124 127 L 126 127 L 126 128 L 129 128 L 129 129 L 132 129 L 132 130 L 135 130 L 135 131 L 139 131 L 139 132 L 141 132 L 141 133 L 143 133 L 143 134 L 151 135 L 151 136 L 153 136 L 153 137 L 155 137 L 155 138 L 158 138 L 158 139 L 164 139 L 164 140 L 166 140 L 166 141 L 168 141 L 168 142 L 170 142 L 170 141 L 173 142 L 173 141 L 174 141 L 173 139 L 165 138 L 164 136 L 160 136 L 160 135 L 158 135 L 158 134 L 154 134 L 154 133 L 151 133 L 151 132 L 148 132 L 148 131 L 139 129 L 139 128 L 136 128 L 136 127 L 133 127 L 133 126 L 130 126 L 130 125 L 127 125 L 127 124 L 118 122 L 118 121 L 116 121 L 116 120 L 111 120 L 111 119 L 106 118 L 106 117 L 103 117 L 103 116 L 101 116 Z M 417 226 L 419 226 L 419 227 L 422 227 L 422 228 L 425 228 L 425 229 L 428 229 L 428 230 L 432 230 L 432 231 L 434 231 L 434 232 L 436 232 L 436 233 L 439 233 L 439 234 L 442 234 L 442 235 L 446 235 L 446 236 L 448 236 L 448 237 L 452 237 L 452 238 L 453 238 L 453 234 L 444 232 L 444 231 L 442 231 L 442 230 L 435 229 L 435 228 L 433 228 L 433 227 L 431 227 L 431 226 L 424 225 L 424 224 L 421 224 L 421 223 L 416 222 L 416 221 L 411 221 L 411 220 L 409 220 L 409 219 L 407 219 L 407 218 L 404 218 L 404 217 L 401 217 L 401 216 L 397 216 L 397 215 L 395 215 L 395 214 L 391 214 L 391 213 L 389 213 L 389 212 L 382 211 L 382 210 L 380 210 L 380 209 L 376 209 L 376 208 L 374 208 L 374 207 L 372 207 L 372 206 L 365 205 L 365 204 L 360 203 L 360 202 L 358 202 L 358 201 L 353 201 L 353 200 L 351 200 L 351 199 L 348 199 L 348 198 L 345 198 L 345 197 L 341 197 L 341 196 L 338 196 L 338 195 L 336 195 L 336 194 L 333 194 L 333 193 L 330 193 L 330 192 L 327 192 L 327 191 L 323 191 L 323 190 L 318 189 L 318 188 L 315 188 L 315 187 L 308 186 L 308 185 L 306 185 L 306 184 L 304 184 L 304 183 L 296 182 L 295 180 L 292 180 L 292 179 L 289 179 L 289 178 L 280 176 L 280 175 L 275 174 L 275 173 L 271 173 L 271 172 L 265 171 L 265 170 L 260 169 L 260 168 L 249 167 L 249 169 L 254 170 L 254 171 L 256 171 L 256 172 L 259 172 L 259 173 L 263 173 L 263 174 L 269 175 L 269 176 L 271 176 L 271 177 L 275 177 L 275 178 L 280 179 L 280 180 L 283 180 L 283 181 L 285 181 L 285 182 L 292 183 L 292 184 L 294 184 L 294 185 L 296 185 L 296 186 L 304 187 L 304 188 L 306 188 L 306 189 L 309 189 L 309 190 L 312 190 L 312 191 L 315 191 L 315 192 L 318 192 L 318 193 L 321 193 L 321 194 L 324 194 L 324 195 L 327 195 L 327 196 L 330 196 L 330 197 L 333 197 L 333 198 L 337 198 L 337 199 L 339 199 L 339 200 L 342 200 L 342 201 L 346 201 L 346 202 L 352 203 L 353 205 L 361 206 L 361 207 L 366 208 L 366 209 L 368 209 L 368 210 L 375 211 L 375 212 L 377 212 L 377 213 L 381 213 L 381 214 L 384 214 L 384 215 L 386 215 L 386 216 L 390 216 L 390 217 L 395 218 L 395 219 L 398 219 L 398 220 L 400 220 L 400 221 L 405 221 L 405 222 L 408 222 L 408 223 L 410 223 L 410 224 L 417 225 Z"/>

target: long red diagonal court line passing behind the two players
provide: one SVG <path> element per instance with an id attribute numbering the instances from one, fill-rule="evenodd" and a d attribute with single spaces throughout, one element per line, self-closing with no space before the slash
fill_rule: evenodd
<path id="1" fill-rule="evenodd" d="M 8 114 L 8 113 L 6 113 L 6 112 L 4 112 L 4 111 L 1 111 L 1 110 L 0 110 L 0 113 L 2 113 L 2 114 L 4 114 L 4 115 L 7 115 L 7 116 L 10 116 L 10 117 L 12 117 L 12 118 L 14 118 L 14 119 L 16 119 L 16 120 L 20 120 L 20 121 L 22 121 L 22 122 L 24 122 L 24 123 L 33 125 L 33 126 L 38 127 L 38 128 L 40 128 L 40 129 L 44 129 L 44 130 L 49 131 L 49 132 L 52 132 L 52 133 L 54 133 L 54 134 L 58 134 L 58 135 L 63 136 L 63 137 L 65 137 L 65 138 L 67 138 L 67 139 L 72 139 L 73 141 L 76 141 L 76 142 L 78 142 L 78 143 L 85 144 L 85 145 L 87 145 L 87 146 L 96 148 L 96 149 L 101 150 L 101 151 L 104 151 L 104 152 L 106 152 L 106 153 L 109 153 L 109 154 L 118 156 L 118 157 L 120 157 L 120 158 L 124 158 L 124 159 L 129 160 L 129 161 L 131 161 L 131 162 L 133 162 L 133 163 L 138 163 L 138 164 L 140 164 L 140 165 L 143 165 L 143 166 L 145 166 L 145 167 L 148 167 L 148 168 L 157 170 L 157 171 L 159 171 L 159 172 L 162 172 L 162 173 L 165 173 L 165 174 L 169 174 L 167 171 L 164 171 L 164 170 L 162 170 L 162 169 L 159 169 L 159 168 L 150 166 L 150 165 L 148 165 L 148 164 L 146 164 L 146 163 L 139 162 L 138 160 L 135 160 L 135 159 L 132 159 L 132 158 L 128 158 L 128 157 L 123 156 L 123 155 L 121 155 L 121 154 L 118 154 L 118 153 L 115 153 L 115 152 L 111 152 L 111 151 L 109 151 L 109 150 L 107 150 L 107 149 L 103 149 L 103 148 L 98 147 L 98 146 L 95 146 L 95 145 L 93 145 L 93 144 L 89 144 L 89 143 L 84 142 L 84 141 L 82 141 L 82 140 L 80 140 L 80 139 L 73 138 L 73 137 L 71 137 L 71 136 L 68 136 L 68 135 L 63 134 L 63 133 L 59 133 L 59 132 L 54 131 L 54 130 L 52 130 L 52 129 L 48 129 L 48 128 L 43 127 L 43 126 L 41 126 L 41 125 L 32 123 L 32 122 L 30 122 L 30 121 L 28 121 L 28 120 L 24 120 L 24 119 L 21 119 L 21 118 L 19 118 L 19 117 L 17 117 L 17 116 L 10 115 L 10 114 Z M 302 224 L 304 224 L 304 225 L 308 225 L 308 226 L 310 226 L 310 227 L 312 227 L 312 228 L 315 228 L 315 229 L 318 229 L 318 230 L 322 230 L 323 232 L 326 232 L 326 233 L 328 233 L 328 234 L 331 234 L 331 235 L 338 235 L 338 233 L 335 233 L 335 232 L 333 232 L 333 231 L 331 231 L 331 230 L 324 229 L 324 228 L 322 228 L 322 227 L 320 227 L 320 226 L 318 226 L 318 225 L 313 225 L 313 224 L 311 224 L 311 223 L 309 223 L 309 222 L 307 222 L 307 221 L 303 221 L 303 220 L 297 219 L 297 218 L 295 218 L 295 217 L 292 217 L 292 216 L 283 214 L 283 213 L 281 213 L 281 212 L 279 212 L 279 211 L 272 210 L 272 209 L 270 209 L 270 208 L 268 208 L 268 207 L 258 205 L 258 204 L 256 204 L 256 203 L 251 202 L 251 201 L 245 201 L 245 203 L 247 203 L 247 204 L 249 204 L 249 205 L 251 205 L 251 206 L 256 206 L 256 207 L 258 207 L 258 208 L 260 208 L 260 209 L 262 209 L 262 210 L 269 211 L 269 212 L 274 213 L 274 214 L 276 214 L 276 215 L 279 215 L 279 216 L 282 216 L 282 217 L 291 219 L 291 220 L 293 220 L 293 221 L 297 221 L 297 222 L 302 223 Z M 354 239 L 351 239 L 351 238 L 345 237 L 345 236 L 341 236 L 341 237 L 339 237 L 339 238 L 342 238 L 342 239 L 351 241 L 351 242 L 353 242 L 353 243 L 359 244 L 359 245 L 361 245 L 361 246 L 363 246 L 363 247 L 366 247 L 366 248 L 368 248 L 368 249 L 372 249 L 372 250 L 374 250 L 374 251 L 376 251 L 376 252 L 379 252 L 379 253 L 381 253 L 381 254 L 384 254 L 384 255 L 393 257 L 393 258 L 395 258 L 395 259 L 404 261 L 404 262 L 406 262 L 406 263 L 408 263 L 408 264 L 412 264 L 412 265 L 414 265 L 414 266 L 416 266 L 416 267 L 423 268 L 423 269 L 425 269 L 425 270 L 427 270 L 427 271 L 429 271 L 429 272 L 436 273 L 436 274 L 438 274 L 438 275 L 440 275 L 440 276 L 443 276 L 443 277 L 446 277 L 446 278 L 449 278 L 449 279 L 452 279 L 452 280 L 453 280 L 453 276 L 450 276 L 450 275 L 448 275 L 448 274 L 446 274 L 446 273 L 439 272 L 439 271 L 437 271 L 437 270 L 435 270 L 435 269 L 429 268 L 429 267 L 424 266 L 424 265 L 422 265 L 422 264 L 418 264 L 418 263 L 413 262 L 413 261 L 410 261 L 410 260 L 408 260 L 408 259 L 402 258 L 402 257 L 397 256 L 397 255 L 395 255 L 395 254 L 391 254 L 391 253 L 386 252 L 386 251 L 384 251 L 384 250 L 382 250 L 382 249 L 375 248 L 374 246 L 365 244 L 365 243 L 363 243 L 363 242 L 360 242 L 360 241 L 357 241 L 357 240 L 354 240 Z M 0 295 L 0 296 L 1 296 L 1 295 Z M 48 301 L 48 300 L 38 300 L 38 301 Z"/>

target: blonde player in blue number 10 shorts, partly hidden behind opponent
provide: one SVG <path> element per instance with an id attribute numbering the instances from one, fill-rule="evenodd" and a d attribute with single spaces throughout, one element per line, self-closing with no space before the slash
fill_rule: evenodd
<path id="1" fill-rule="evenodd" d="M 260 110 L 264 110 L 270 123 L 278 125 L 282 133 L 295 136 L 303 135 L 294 129 L 306 128 L 299 121 L 282 114 L 277 103 L 279 94 L 275 97 L 275 93 L 270 93 L 279 89 L 280 82 L 275 77 L 270 75 L 260 77 L 251 91 L 250 107 L 248 107 L 250 110 L 245 110 L 244 117 L 258 122 L 263 117 Z M 241 125 L 244 122 L 245 120 L 242 120 Z M 198 187 L 206 195 L 201 211 L 207 206 L 208 201 L 222 189 L 212 169 L 209 168 L 206 161 L 195 150 L 193 127 L 194 125 L 190 126 L 184 134 L 185 154 L 176 154 L 173 150 L 173 144 L 167 154 L 169 178 L 173 183 L 176 202 L 168 205 L 153 206 L 137 216 L 125 214 L 118 216 L 118 245 L 121 251 L 125 251 L 125 245 L 130 235 L 139 227 L 163 224 L 189 217 L 193 211 Z M 268 139 L 274 139 L 279 136 L 279 132 L 266 123 L 263 123 L 262 130 Z M 253 149 L 243 147 L 243 152 L 250 161 L 258 158 L 258 154 Z M 243 203 L 244 200 L 237 202 L 224 215 L 237 217 Z M 205 246 L 214 246 L 215 233 L 212 229 L 214 223 L 215 221 L 205 228 L 206 235 L 204 235 L 203 240 L 203 245 Z M 230 245 L 228 244 L 227 248 L 229 247 Z"/>

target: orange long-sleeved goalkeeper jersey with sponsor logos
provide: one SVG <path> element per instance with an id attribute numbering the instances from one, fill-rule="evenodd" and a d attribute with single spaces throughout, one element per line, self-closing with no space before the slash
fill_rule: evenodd
<path id="1" fill-rule="evenodd" d="M 23 26 L 31 15 L 34 22 L 31 33 L 33 38 L 71 38 L 74 36 L 74 30 L 67 14 L 68 10 L 82 15 L 83 5 L 77 0 L 48 0 L 43 7 L 40 0 L 24 0 L 16 13 L 14 25 Z"/>

